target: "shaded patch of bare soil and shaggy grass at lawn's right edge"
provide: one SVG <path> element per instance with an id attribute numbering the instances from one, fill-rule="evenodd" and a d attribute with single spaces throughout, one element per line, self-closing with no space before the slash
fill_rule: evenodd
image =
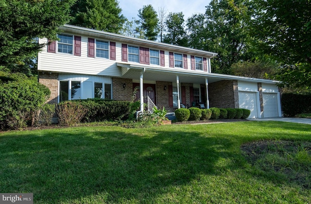
<path id="1" fill-rule="evenodd" d="M 311 142 L 255 141 L 241 146 L 248 163 L 269 176 L 311 189 Z"/>

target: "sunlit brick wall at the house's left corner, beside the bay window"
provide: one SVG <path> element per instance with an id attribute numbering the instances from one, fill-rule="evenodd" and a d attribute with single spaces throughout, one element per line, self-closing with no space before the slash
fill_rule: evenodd
<path id="1" fill-rule="evenodd" d="M 52 72 L 39 72 L 39 83 L 47 86 L 51 91 L 51 96 L 48 99 L 48 103 L 58 102 L 58 73 Z"/>

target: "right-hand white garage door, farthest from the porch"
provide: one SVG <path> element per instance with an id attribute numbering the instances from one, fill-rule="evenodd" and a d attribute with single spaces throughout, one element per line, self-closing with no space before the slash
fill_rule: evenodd
<path id="1" fill-rule="evenodd" d="M 262 93 L 263 115 L 265 118 L 278 117 L 277 94 Z"/>

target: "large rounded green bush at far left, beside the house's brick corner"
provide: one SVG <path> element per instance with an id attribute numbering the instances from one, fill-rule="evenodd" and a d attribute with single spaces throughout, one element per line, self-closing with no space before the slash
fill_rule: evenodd
<path id="1" fill-rule="evenodd" d="M 0 128 L 30 124 L 35 111 L 46 102 L 50 93 L 35 77 L 0 72 Z"/>

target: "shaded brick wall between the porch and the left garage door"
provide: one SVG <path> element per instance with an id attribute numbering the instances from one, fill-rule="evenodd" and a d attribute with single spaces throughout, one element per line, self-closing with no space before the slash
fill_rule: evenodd
<path id="1" fill-rule="evenodd" d="M 209 107 L 239 108 L 238 81 L 223 80 L 208 85 Z"/>

